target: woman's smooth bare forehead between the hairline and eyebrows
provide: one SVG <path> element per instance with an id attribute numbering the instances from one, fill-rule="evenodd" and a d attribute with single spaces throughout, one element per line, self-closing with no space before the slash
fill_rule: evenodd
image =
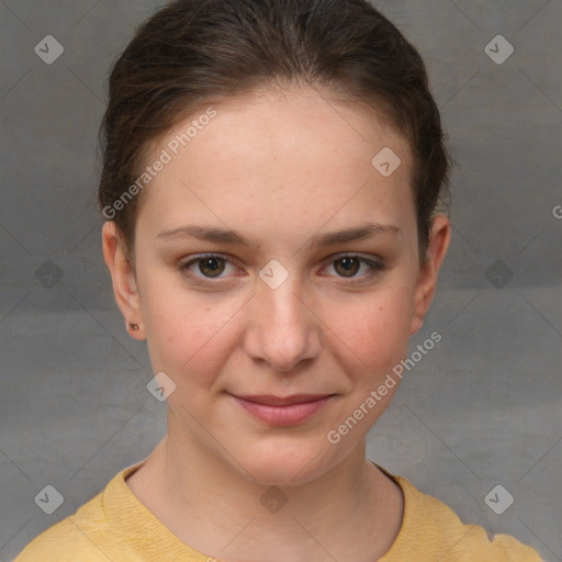
<path id="1" fill-rule="evenodd" d="M 376 209 L 384 223 L 413 210 L 407 140 L 367 106 L 315 90 L 272 88 L 202 105 L 153 143 L 146 164 L 164 153 L 139 211 L 153 227 L 203 213 L 215 224 L 297 227 L 300 218 L 314 229 L 331 215 L 344 224 Z M 373 166 L 379 154 L 392 167 L 400 158 L 392 175 L 375 167 L 381 158 Z"/>

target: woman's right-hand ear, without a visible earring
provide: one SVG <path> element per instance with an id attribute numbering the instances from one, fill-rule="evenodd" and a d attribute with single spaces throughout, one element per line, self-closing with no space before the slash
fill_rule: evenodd
<path id="1" fill-rule="evenodd" d="M 437 215 L 431 221 L 427 262 L 420 267 L 414 294 L 414 310 L 409 334 L 415 334 L 424 324 L 424 318 L 434 300 L 439 268 L 445 259 L 451 238 L 449 220 Z"/>

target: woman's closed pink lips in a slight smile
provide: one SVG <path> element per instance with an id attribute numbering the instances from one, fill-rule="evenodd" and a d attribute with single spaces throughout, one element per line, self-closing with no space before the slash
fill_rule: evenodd
<path id="1" fill-rule="evenodd" d="M 233 394 L 232 396 L 246 412 L 262 422 L 276 426 L 292 426 L 301 424 L 312 417 L 321 411 L 334 395 L 299 394 L 284 398 L 263 395 L 241 397 Z"/>

